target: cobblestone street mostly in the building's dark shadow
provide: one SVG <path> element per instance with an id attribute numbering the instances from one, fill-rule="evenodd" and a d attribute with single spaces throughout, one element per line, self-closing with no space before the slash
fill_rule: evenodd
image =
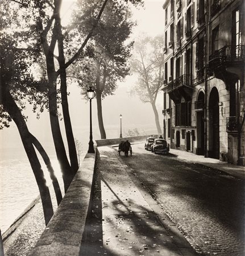
<path id="1" fill-rule="evenodd" d="M 244 256 L 244 180 L 171 154 L 152 154 L 143 144 L 120 160 L 198 253 Z"/>

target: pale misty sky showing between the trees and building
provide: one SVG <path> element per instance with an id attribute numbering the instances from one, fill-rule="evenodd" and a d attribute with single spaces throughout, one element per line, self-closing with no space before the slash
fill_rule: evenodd
<path id="1" fill-rule="evenodd" d="M 163 34 L 164 12 L 162 6 L 164 2 L 165 1 L 145 1 L 145 9 L 133 10 L 133 18 L 137 20 L 138 26 L 133 30 L 132 39 L 137 38 L 142 32 L 146 32 L 151 36 Z M 72 6 L 73 1 L 64 1 L 62 14 L 64 23 L 66 22 L 66 19 L 69 20 Z M 156 127 L 151 105 L 143 104 L 139 98 L 130 97 L 127 93 L 131 86 L 134 85 L 135 81 L 136 78 L 134 76 L 127 77 L 124 82 L 119 84 L 114 96 L 108 96 L 102 101 L 103 121 L 107 138 L 119 137 L 120 114 L 123 115 L 123 135 L 127 133 L 128 129 L 138 128 L 139 131 L 147 131 L 152 128 L 155 129 Z M 83 147 L 86 150 L 86 144 L 89 142 L 89 104 L 85 100 L 82 100 L 80 90 L 76 85 L 68 85 L 68 91 L 70 92 L 68 100 L 74 137 L 84 145 Z M 161 129 L 163 129 L 161 117 L 161 109 L 163 108 L 162 94 L 163 93 L 160 92 L 157 99 L 157 109 L 159 110 Z M 92 101 L 92 108 L 93 137 L 94 139 L 99 139 L 100 135 L 98 131 L 97 106 L 95 99 Z M 40 140 L 44 147 L 53 147 L 48 113 L 43 113 L 41 118 L 37 120 L 35 114 L 31 111 L 31 107 L 27 106 L 25 114 L 28 115 L 27 126 L 31 133 Z M 60 123 L 61 127 L 63 127 L 63 122 L 61 121 Z M 11 151 L 7 150 L 7 148 L 16 147 L 19 148 L 19 150 L 23 150 L 18 130 L 15 123 L 11 122 L 9 128 L 5 128 L 1 131 L 2 158 L 5 158 L 5 156 L 7 157 L 7 154 L 11 154 Z"/>

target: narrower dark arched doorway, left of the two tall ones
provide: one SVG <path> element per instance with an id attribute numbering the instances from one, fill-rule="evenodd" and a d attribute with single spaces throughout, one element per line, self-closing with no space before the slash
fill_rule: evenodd
<path id="1" fill-rule="evenodd" d="M 200 92 L 197 98 L 197 155 L 204 155 L 204 93 Z"/>

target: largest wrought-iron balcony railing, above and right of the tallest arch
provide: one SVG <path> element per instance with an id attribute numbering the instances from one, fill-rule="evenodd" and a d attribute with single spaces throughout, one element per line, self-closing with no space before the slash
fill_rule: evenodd
<path id="1" fill-rule="evenodd" d="M 209 67 L 245 60 L 245 46 L 224 46 L 209 56 Z"/>

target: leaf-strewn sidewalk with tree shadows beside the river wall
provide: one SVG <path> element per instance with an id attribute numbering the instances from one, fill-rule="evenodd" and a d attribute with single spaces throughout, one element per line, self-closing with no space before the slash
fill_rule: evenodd
<path id="1" fill-rule="evenodd" d="M 98 152 L 80 255 L 197 255 L 117 151 Z"/>

